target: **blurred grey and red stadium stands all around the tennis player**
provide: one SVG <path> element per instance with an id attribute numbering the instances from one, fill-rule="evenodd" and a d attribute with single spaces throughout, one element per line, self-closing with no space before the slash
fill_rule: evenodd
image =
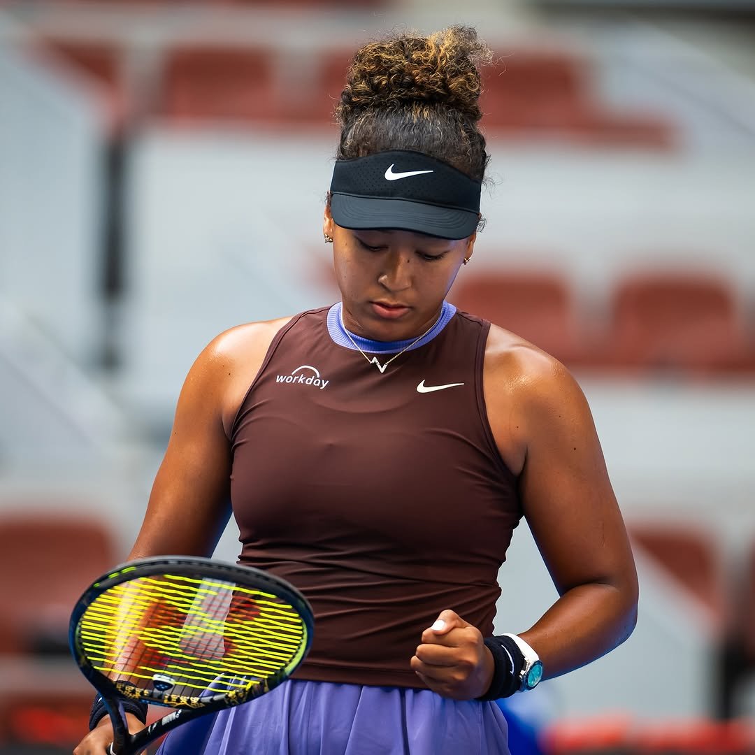
<path id="1" fill-rule="evenodd" d="M 513 755 L 753 751 L 755 0 L 0 0 L 0 752 L 82 736 L 69 613 L 193 359 L 337 299 L 350 54 L 449 23 L 497 57 L 449 298 L 572 369 L 641 581 L 627 643 L 507 701 Z M 556 598 L 524 524 L 501 587 L 499 632 Z"/>

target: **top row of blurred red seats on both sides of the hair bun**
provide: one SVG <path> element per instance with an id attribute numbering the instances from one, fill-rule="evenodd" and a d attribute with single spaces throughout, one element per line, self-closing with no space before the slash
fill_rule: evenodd
<path id="1" fill-rule="evenodd" d="M 115 43 L 70 35 L 45 43 L 103 85 L 110 117 L 157 116 L 172 125 L 233 124 L 315 128 L 332 122 L 351 48 L 297 51 L 259 43 L 162 42 L 153 56 L 153 87 L 125 75 L 128 51 Z M 507 50 L 484 70 L 480 100 L 485 128 L 513 140 L 562 140 L 583 146 L 670 149 L 676 130 L 661 113 L 617 112 L 602 105 L 596 63 L 572 51 L 533 43 Z M 156 91 L 154 91 L 156 89 Z"/>

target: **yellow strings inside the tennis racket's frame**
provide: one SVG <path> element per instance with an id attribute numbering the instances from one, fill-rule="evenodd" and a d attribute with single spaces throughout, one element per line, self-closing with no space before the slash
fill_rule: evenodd
<path id="1" fill-rule="evenodd" d="M 293 667 L 307 627 L 272 593 L 160 575 L 97 596 L 79 621 L 79 640 L 92 666 L 112 680 L 196 697 L 246 689 Z"/>

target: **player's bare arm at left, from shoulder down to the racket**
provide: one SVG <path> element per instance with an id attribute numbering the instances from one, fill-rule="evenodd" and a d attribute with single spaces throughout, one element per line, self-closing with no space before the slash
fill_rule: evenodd
<path id="1" fill-rule="evenodd" d="M 230 517 L 228 418 L 239 407 L 277 328 L 254 323 L 220 334 L 192 365 L 168 448 L 130 558 L 209 556 Z"/>

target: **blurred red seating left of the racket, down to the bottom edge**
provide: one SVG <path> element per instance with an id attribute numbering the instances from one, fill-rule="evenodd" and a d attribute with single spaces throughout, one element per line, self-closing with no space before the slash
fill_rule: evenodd
<path id="1" fill-rule="evenodd" d="M 94 696 L 69 654 L 69 615 L 123 556 L 107 525 L 55 503 L 0 510 L 0 753 L 70 752 Z"/>

